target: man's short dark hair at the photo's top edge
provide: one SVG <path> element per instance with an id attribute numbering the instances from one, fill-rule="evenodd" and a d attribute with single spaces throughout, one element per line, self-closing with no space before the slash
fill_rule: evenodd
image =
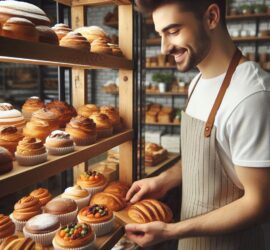
<path id="1" fill-rule="evenodd" d="M 193 12 L 198 19 L 203 17 L 211 4 L 217 4 L 220 9 L 221 24 L 226 26 L 226 0 L 135 0 L 135 3 L 138 10 L 144 13 L 152 13 L 165 4 L 178 3 L 183 10 Z"/>

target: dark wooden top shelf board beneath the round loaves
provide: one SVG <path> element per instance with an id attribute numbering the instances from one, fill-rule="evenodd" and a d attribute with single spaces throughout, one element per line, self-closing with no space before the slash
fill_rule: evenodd
<path id="1" fill-rule="evenodd" d="M 123 57 L 97 54 L 46 43 L 33 43 L 0 37 L 0 61 L 85 69 L 132 69 L 132 61 Z"/>

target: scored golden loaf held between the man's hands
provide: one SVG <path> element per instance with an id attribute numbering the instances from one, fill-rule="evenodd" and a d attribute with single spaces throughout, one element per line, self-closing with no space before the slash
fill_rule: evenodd
<path id="1" fill-rule="evenodd" d="M 173 218 L 172 211 L 167 205 L 153 199 L 145 199 L 131 205 L 128 209 L 128 216 L 137 223 L 152 221 L 169 223 Z"/>

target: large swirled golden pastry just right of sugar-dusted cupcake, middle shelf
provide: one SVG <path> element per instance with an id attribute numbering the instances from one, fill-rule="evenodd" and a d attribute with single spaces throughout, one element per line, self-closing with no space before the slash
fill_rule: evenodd
<path id="1" fill-rule="evenodd" d="M 86 146 L 94 143 L 97 139 L 96 124 L 92 119 L 76 116 L 66 126 L 66 132 L 78 146 Z"/>

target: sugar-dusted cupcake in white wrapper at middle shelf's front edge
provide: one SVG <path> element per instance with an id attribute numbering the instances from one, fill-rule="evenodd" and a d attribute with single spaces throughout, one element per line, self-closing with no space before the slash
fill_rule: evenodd
<path id="1" fill-rule="evenodd" d="M 46 138 L 45 146 L 51 155 L 64 155 L 74 151 L 70 135 L 61 130 L 54 130 Z"/>

